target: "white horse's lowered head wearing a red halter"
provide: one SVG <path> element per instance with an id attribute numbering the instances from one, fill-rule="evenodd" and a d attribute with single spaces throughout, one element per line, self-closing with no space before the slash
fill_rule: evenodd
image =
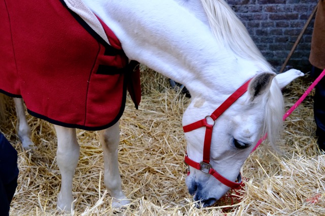
<path id="1" fill-rule="evenodd" d="M 183 125 L 187 140 L 185 162 L 190 170 L 186 185 L 194 200 L 210 206 L 230 188 L 237 188 L 244 161 L 265 133 L 275 145 L 282 128 L 281 89 L 302 75 L 295 69 L 278 75 L 262 72 L 221 105 L 209 103 L 208 99 L 192 100 Z"/>

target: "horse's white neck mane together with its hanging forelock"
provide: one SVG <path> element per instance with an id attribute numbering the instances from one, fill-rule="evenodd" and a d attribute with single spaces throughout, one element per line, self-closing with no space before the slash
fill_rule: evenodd
<path id="1" fill-rule="evenodd" d="M 259 52 L 246 27 L 224 0 L 201 0 L 208 16 L 215 38 L 243 59 L 253 61 L 260 72 L 274 71 L 272 66 Z M 270 94 L 266 97 L 263 134 L 268 134 L 271 146 L 276 148 L 276 141 L 283 128 L 282 115 L 284 102 L 281 90 L 273 79 Z"/>

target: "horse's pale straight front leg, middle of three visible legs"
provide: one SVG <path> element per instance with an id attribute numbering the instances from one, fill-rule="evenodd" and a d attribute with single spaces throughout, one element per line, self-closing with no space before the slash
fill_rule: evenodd
<path id="1" fill-rule="evenodd" d="M 57 135 L 56 162 L 61 172 L 61 190 L 57 197 L 57 207 L 70 211 L 74 209 L 72 180 L 79 160 L 80 147 L 75 128 L 54 126 Z"/>

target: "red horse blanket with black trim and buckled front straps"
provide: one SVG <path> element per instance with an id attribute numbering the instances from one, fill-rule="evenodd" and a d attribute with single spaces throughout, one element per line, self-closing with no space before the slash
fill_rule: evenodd
<path id="1" fill-rule="evenodd" d="M 0 0 L 0 20 L 0 92 L 31 115 L 92 131 L 119 120 L 127 87 L 138 106 L 138 64 L 103 22 L 109 43 L 59 0 Z"/>

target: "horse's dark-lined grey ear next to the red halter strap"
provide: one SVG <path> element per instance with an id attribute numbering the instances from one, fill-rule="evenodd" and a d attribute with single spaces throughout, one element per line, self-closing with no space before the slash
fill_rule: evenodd
<path id="1" fill-rule="evenodd" d="M 253 77 L 248 85 L 248 93 L 251 101 L 269 91 L 275 75 L 275 73 L 263 72 Z"/>

